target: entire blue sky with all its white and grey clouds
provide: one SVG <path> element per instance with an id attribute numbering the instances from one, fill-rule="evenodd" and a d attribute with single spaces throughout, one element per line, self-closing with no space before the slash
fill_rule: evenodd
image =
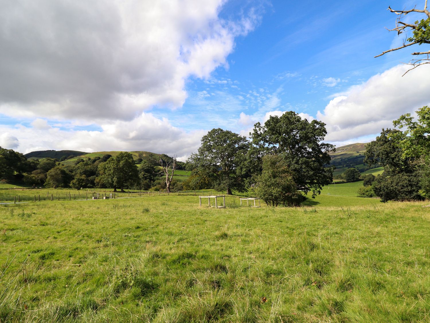
<path id="1" fill-rule="evenodd" d="M 430 103 L 428 65 L 401 77 L 412 50 L 373 57 L 402 41 L 388 5 L 421 0 L 106 3 L 5 4 L 0 146 L 185 159 L 289 110 L 342 145 Z"/>

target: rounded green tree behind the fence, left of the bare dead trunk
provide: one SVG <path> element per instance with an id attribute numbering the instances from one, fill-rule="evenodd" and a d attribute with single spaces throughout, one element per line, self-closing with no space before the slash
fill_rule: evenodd
<path id="1" fill-rule="evenodd" d="M 103 164 L 102 182 L 124 192 L 124 187 L 134 184 L 138 179 L 138 171 L 135 166 L 133 155 L 129 152 L 120 152 L 115 157 L 109 158 Z"/>

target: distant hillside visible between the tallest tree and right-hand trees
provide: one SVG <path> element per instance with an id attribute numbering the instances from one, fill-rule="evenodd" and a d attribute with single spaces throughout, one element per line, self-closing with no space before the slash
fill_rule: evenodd
<path id="1" fill-rule="evenodd" d="M 342 174 L 349 167 L 355 167 L 360 172 L 368 170 L 369 166 L 363 165 L 366 145 L 367 143 L 353 143 L 336 147 L 336 152 L 330 152 L 330 156 L 332 157 L 330 165 L 336 166 L 333 174 Z"/>

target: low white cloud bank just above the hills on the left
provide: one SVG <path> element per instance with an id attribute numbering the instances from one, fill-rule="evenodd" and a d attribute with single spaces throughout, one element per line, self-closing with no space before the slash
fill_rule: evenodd
<path id="1" fill-rule="evenodd" d="M 206 131 L 186 132 L 173 127 L 166 118 L 156 118 L 143 112 L 132 121 L 117 120 L 101 124 L 102 130 L 61 130 L 58 127 L 37 128 L 18 124 L 15 127 L 0 126 L 0 145 L 18 148 L 22 153 L 45 149 L 71 149 L 93 151 L 145 150 L 167 155 L 177 155 L 185 160 L 197 151 L 200 139 Z M 19 137 L 19 144 L 16 137 Z"/>

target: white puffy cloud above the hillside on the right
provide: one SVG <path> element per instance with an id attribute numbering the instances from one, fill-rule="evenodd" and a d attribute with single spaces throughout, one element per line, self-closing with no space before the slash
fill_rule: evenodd
<path id="1" fill-rule="evenodd" d="M 326 140 L 336 142 L 377 134 L 392 127 L 400 115 L 430 104 L 430 66 L 423 65 L 402 75 L 408 65 L 397 65 L 350 87 L 332 99 L 316 118 L 327 126 Z"/>

